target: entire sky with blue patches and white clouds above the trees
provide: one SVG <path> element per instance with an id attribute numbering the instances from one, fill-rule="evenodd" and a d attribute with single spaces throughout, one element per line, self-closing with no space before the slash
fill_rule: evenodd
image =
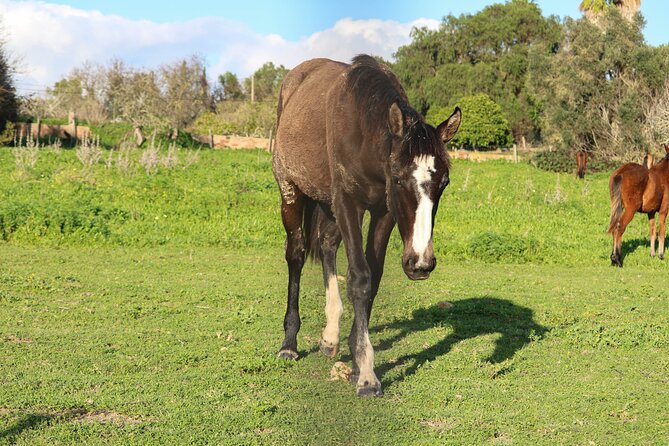
<path id="1" fill-rule="evenodd" d="M 22 93 L 43 91 L 73 68 L 112 58 L 156 67 L 193 54 L 215 77 L 249 76 L 271 61 L 292 68 L 313 57 L 392 59 L 416 27 L 436 29 L 448 15 L 476 13 L 492 1 L 0 0 L 7 46 L 22 59 Z M 580 17 L 580 0 L 539 0 L 545 15 Z M 645 36 L 669 43 L 669 7 L 642 0 Z"/>

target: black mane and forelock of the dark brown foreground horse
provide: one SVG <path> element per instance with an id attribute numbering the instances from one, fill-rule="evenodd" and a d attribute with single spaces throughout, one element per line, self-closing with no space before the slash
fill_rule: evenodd
<path id="1" fill-rule="evenodd" d="M 416 156 L 436 155 L 441 148 L 436 133 L 429 132 L 423 117 L 409 105 L 407 95 L 397 77 L 386 65 L 366 54 L 353 58 L 348 71 L 346 88 L 351 92 L 360 113 L 363 131 L 379 130 L 390 138 L 388 112 L 397 103 L 408 129 L 404 135 L 408 150 L 403 153 L 407 162 Z"/>

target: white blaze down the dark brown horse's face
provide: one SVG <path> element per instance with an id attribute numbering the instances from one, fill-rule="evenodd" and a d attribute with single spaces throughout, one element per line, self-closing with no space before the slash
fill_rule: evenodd
<path id="1" fill-rule="evenodd" d="M 418 207 L 416 208 L 416 219 L 413 224 L 413 238 L 411 246 L 418 254 L 417 267 L 427 266 L 425 251 L 432 238 L 432 208 L 434 203 L 425 192 L 423 183 L 432 179 L 434 172 L 434 156 L 419 156 L 415 159 L 416 170 L 413 177 L 416 180 L 418 190 Z"/>

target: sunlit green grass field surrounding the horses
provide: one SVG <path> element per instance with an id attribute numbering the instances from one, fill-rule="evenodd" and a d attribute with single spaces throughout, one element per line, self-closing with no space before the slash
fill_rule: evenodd
<path id="1" fill-rule="evenodd" d="M 19 175 L 0 148 L 0 444 L 667 444 L 669 265 L 647 219 L 612 268 L 607 174 L 456 161 L 451 178 L 428 281 L 391 241 L 371 323 L 385 397 L 361 399 L 318 353 L 317 265 L 302 359 L 276 358 L 267 154 L 149 176 L 46 150 Z"/>

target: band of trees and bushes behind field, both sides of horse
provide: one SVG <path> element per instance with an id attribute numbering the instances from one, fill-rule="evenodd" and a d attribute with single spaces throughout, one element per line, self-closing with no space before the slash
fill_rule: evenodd
<path id="1" fill-rule="evenodd" d="M 412 42 L 386 63 L 428 119 L 467 108 L 470 129 L 453 141 L 457 147 L 530 144 L 561 152 L 557 158 L 586 151 L 602 163 L 661 155 L 669 141 L 668 47 L 645 42 L 638 0 L 580 7 L 580 19 L 546 17 L 529 0 L 449 15 L 437 30 L 413 30 Z M 19 111 L 44 121 L 75 110 L 90 124 L 123 121 L 145 135 L 158 128 L 268 136 L 287 71 L 267 62 L 246 79 L 226 72 L 211 82 L 197 56 L 153 69 L 87 63 L 46 97 L 20 98 Z"/>

